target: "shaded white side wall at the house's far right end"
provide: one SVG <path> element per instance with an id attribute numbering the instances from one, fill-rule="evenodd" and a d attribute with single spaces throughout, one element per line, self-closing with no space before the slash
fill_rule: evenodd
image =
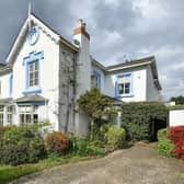
<path id="1" fill-rule="evenodd" d="M 151 67 L 148 66 L 147 69 L 147 101 L 159 101 L 159 90 L 156 88 L 153 83 L 153 77 Z"/>

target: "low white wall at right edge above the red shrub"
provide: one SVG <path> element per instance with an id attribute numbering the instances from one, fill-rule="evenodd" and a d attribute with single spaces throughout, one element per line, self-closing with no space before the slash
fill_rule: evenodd
<path id="1" fill-rule="evenodd" d="M 171 110 L 169 114 L 169 126 L 184 125 L 184 110 Z"/>

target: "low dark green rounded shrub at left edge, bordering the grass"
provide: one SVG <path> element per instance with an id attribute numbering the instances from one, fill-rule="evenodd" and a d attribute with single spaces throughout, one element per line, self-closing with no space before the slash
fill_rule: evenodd
<path id="1" fill-rule="evenodd" d="M 1 163 L 19 165 L 28 162 L 28 151 L 26 146 L 14 143 L 4 145 L 1 152 Z"/>

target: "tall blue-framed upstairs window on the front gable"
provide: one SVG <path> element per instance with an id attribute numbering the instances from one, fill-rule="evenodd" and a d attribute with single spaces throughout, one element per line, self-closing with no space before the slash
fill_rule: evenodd
<path id="1" fill-rule="evenodd" d="M 44 59 L 44 51 L 32 51 L 28 57 L 23 59 L 25 67 L 25 88 L 23 94 L 41 93 L 41 67 L 39 62 Z"/>

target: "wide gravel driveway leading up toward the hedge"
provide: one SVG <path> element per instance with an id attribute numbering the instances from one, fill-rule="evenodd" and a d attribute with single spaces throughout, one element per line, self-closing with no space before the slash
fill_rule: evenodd
<path id="1" fill-rule="evenodd" d="M 103 159 L 56 166 L 13 184 L 184 184 L 184 162 L 136 145 Z"/>

